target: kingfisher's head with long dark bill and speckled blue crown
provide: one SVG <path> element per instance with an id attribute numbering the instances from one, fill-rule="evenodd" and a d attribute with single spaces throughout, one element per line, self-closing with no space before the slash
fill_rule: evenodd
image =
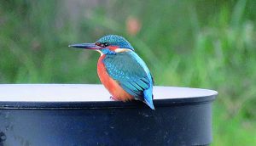
<path id="1" fill-rule="evenodd" d="M 68 47 L 96 50 L 102 55 L 134 51 L 130 42 L 128 42 L 124 37 L 117 35 L 103 36 L 95 43 L 79 43 L 69 45 Z"/>

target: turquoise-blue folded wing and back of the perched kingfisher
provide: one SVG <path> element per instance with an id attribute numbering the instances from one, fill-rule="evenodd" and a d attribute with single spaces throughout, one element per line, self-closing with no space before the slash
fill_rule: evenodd
<path id="1" fill-rule="evenodd" d="M 143 101 L 145 98 L 152 100 L 152 76 L 137 53 L 130 51 L 107 55 L 103 63 L 108 75 L 118 81 L 127 93 Z"/>

